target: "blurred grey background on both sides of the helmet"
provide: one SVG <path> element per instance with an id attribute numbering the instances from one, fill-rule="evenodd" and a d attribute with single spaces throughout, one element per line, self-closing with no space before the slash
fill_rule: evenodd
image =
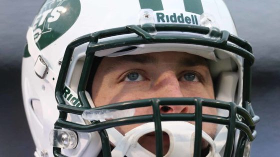
<path id="1" fill-rule="evenodd" d="M 224 0 L 255 54 L 252 105 L 261 118 L 251 157 L 280 157 L 280 1 Z M 25 34 L 44 0 L 0 0 L 0 157 L 32 157 L 35 147 L 20 86 Z"/>

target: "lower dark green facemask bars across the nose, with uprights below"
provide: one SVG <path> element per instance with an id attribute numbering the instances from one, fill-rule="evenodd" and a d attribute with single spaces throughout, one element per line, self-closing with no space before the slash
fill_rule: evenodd
<path id="1" fill-rule="evenodd" d="M 186 105 L 188 104 L 195 106 L 195 113 L 191 114 L 160 114 L 159 105 Z M 252 141 L 256 136 L 254 130 L 251 131 L 250 127 L 254 127 L 255 121 L 251 118 L 250 114 L 240 106 L 235 105 L 230 102 L 217 101 L 212 99 L 201 99 L 201 98 L 153 98 L 145 100 L 135 100 L 122 103 L 109 104 L 97 108 L 92 108 L 89 110 L 125 110 L 139 107 L 148 107 L 152 106 L 153 114 L 152 115 L 143 115 L 143 116 L 133 116 L 125 117 L 113 120 L 107 120 L 105 122 L 96 122 L 90 125 L 80 125 L 66 120 L 58 119 L 56 126 L 73 130 L 76 132 L 94 132 L 100 131 L 107 128 L 129 125 L 135 123 L 148 123 L 154 122 L 155 124 L 155 137 L 156 137 L 156 156 L 162 157 L 162 131 L 161 131 L 161 121 L 195 121 L 195 144 L 194 144 L 194 157 L 200 157 L 201 150 L 201 131 L 202 131 L 202 122 L 209 122 L 215 124 L 222 124 L 228 126 L 227 140 L 225 149 L 229 150 L 228 155 L 224 157 L 230 157 L 235 128 L 244 132 L 245 140 Z M 228 117 L 220 117 L 214 115 L 202 115 L 202 106 L 205 107 L 214 107 L 219 109 L 228 110 Z M 77 108 L 69 105 L 59 105 L 59 111 L 64 111 L 67 113 L 81 115 L 85 109 Z M 244 119 L 244 122 L 236 120 L 236 114 L 241 116 Z M 103 139 L 108 141 L 108 139 Z M 102 147 L 103 151 L 109 151 L 109 145 Z M 108 149 L 108 150 L 106 150 Z M 110 156 L 109 156 L 110 157 Z"/>

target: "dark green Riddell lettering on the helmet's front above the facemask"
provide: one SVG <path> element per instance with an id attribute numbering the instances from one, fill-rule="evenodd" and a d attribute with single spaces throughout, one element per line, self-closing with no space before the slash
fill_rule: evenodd
<path id="1" fill-rule="evenodd" d="M 198 25 L 197 16 L 193 14 L 191 14 L 190 16 L 184 16 L 182 13 L 180 13 L 180 15 L 176 15 L 176 13 L 165 15 L 162 12 L 156 12 L 156 18 L 157 22 L 187 23 Z"/>

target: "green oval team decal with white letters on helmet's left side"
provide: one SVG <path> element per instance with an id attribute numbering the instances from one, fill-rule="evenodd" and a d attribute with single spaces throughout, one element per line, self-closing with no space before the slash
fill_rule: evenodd
<path id="1" fill-rule="evenodd" d="M 32 23 L 38 48 L 45 48 L 64 34 L 79 13 L 79 0 L 46 0 Z"/>

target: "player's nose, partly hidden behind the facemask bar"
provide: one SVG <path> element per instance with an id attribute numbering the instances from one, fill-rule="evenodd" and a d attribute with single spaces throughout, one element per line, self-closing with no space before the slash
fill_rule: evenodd
<path id="1" fill-rule="evenodd" d="M 184 97 L 181 92 L 178 78 L 172 71 L 162 73 L 152 86 L 155 97 L 180 98 Z M 186 105 L 164 105 L 159 107 L 160 113 L 187 113 Z"/>

